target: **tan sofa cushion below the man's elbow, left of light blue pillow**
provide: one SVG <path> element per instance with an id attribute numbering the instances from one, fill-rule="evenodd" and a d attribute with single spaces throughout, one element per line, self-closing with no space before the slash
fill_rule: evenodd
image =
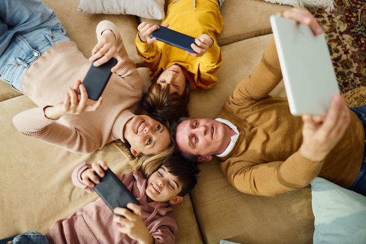
<path id="1" fill-rule="evenodd" d="M 239 243 L 312 243 L 314 216 L 309 187 L 263 197 L 235 190 L 220 170 L 217 158 L 200 165 L 191 192 L 203 241 Z"/>

